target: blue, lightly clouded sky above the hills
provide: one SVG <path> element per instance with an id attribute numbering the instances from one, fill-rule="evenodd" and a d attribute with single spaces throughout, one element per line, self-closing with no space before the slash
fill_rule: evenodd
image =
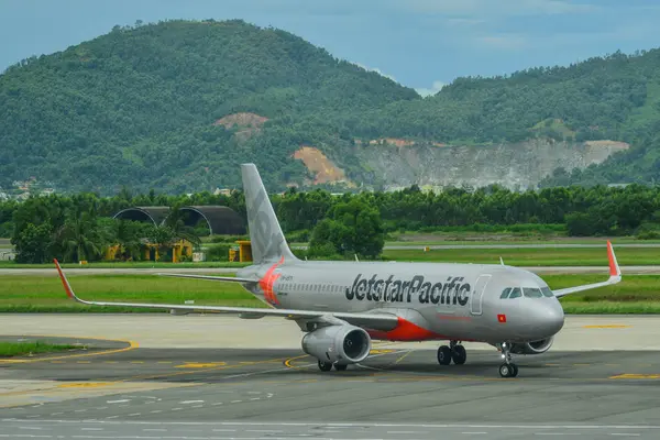
<path id="1" fill-rule="evenodd" d="M 0 72 L 165 19 L 273 25 L 421 95 L 461 76 L 660 46 L 658 0 L 0 0 Z"/>

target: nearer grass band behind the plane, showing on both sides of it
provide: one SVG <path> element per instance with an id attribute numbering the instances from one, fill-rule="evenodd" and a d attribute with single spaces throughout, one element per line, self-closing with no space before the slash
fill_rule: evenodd
<path id="1" fill-rule="evenodd" d="M 547 275 L 551 288 L 604 280 L 604 275 Z M 264 307 L 240 285 L 151 275 L 70 276 L 85 299 L 129 302 Z M 90 307 L 69 300 L 53 276 L 0 276 L 0 312 L 150 312 L 160 310 Z M 566 296 L 566 314 L 660 314 L 660 275 L 630 275 L 617 285 Z"/>

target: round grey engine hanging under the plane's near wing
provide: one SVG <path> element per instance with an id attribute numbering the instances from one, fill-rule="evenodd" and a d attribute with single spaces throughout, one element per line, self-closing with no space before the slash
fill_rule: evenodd
<path id="1" fill-rule="evenodd" d="M 369 356 L 371 338 L 355 326 L 321 327 L 305 334 L 302 351 L 323 362 L 354 364 Z"/>

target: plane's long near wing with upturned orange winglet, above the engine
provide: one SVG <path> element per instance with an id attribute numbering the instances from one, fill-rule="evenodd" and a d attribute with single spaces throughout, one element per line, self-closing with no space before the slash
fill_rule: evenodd
<path id="1" fill-rule="evenodd" d="M 252 307 L 221 307 L 221 306 L 194 306 L 194 305 L 179 305 L 179 304 L 148 304 L 148 302 L 105 302 L 105 301 L 88 301 L 80 299 L 74 293 L 66 275 L 59 266 L 59 262 L 54 260 L 55 267 L 62 279 L 62 284 L 66 292 L 66 295 L 75 300 L 76 302 L 85 304 L 87 306 L 119 306 L 119 307 L 133 307 L 133 308 L 148 308 L 148 309 L 163 309 L 172 310 L 174 312 L 207 312 L 207 314 L 234 314 L 240 315 L 244 318 L 262 318 L 265 316 L 276 316 L 286 319 L 319 319 L 323 321 L 333 321 L 341 319 L 345 322 L 352 323 L 359 327 L 366 327 L 373 330 L 389 331 L 395 329 L 399 319 L 393 314 L 352 314 L 352 312 L 330 312 L 330 311 L 315 311 L 315 310 L 295 310 L 295 309 L 273 309 L 273 308 L 252 308 Z M 222 278 L 222 277 L 218 277 Z M 231 279 L 231 278 L 230 278 Z M 233 280 L 233 279 L 231 279 Z M 244 280 L 240 280 L 244 282 Z M 250 283 L 254 283 L 252 279 L 248 279 Z"/>

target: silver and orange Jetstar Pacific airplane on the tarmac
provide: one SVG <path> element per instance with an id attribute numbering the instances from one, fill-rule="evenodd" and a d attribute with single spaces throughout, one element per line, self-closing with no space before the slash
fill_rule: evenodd
<path id="1" fill-rule="evenodd" d="M 559 298 L 608 286 L 622 274 L 607 242 L 609 278 L 551 290 L 536 274 L 501 264 L 301 261 L 286 243 L 254 164 L 241 165 L 253 264 L 235 277 L 158 274 L 239 283 L 268 308 L 90 301 L 78 298 L 55 260 L 68 297 L 90 306 L 123 306 L 190 312 L 280 317 L 305 336 L 302 351 L 328 372 L 364 361 L 372 340 L 449 341 L 438 349 L 441 365 L 464 364 L 462 342 L 483 342 L 501 352 L 502 377 L 516 377 L 513 354 L 541 354 L 564 323 Z"/>

